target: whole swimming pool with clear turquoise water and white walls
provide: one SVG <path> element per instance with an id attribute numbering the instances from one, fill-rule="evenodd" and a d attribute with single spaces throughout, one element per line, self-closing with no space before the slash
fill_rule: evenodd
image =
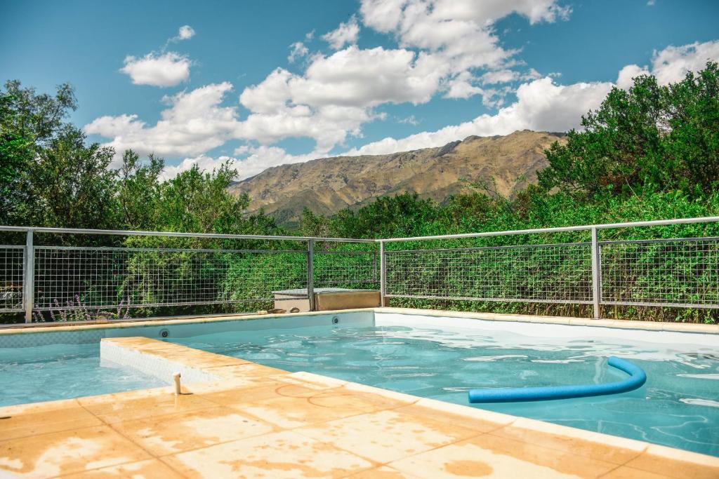
<path id="1" fill-rule="evenodd" d="M 6 384 L 2 374 L 14 381 L 0 391 L 0 401 L 8 391 L 17 403 L 163 385 L 132 371 L 125 371 L 123 379 L 96 355 L 100 338 L 163 339 L 163 332 L 174 343 L 288 371 L 719 456 L 719 335 L 689 332 L 367 311 L 32 333 L 22 335 L 27 343 L 32 337 L 56 335 L 49 341 L 54 349 L 9 348 L 12 354 L 0 349 L 0 364 L 5 365 L 0 366 L 0 381 Z M 0 347 L 4 339 L 12 340 L 0 335 Z M 467 391 L 474 388 L 605 383 L 626 377 L 607 367 L 610 355 L 644 368 L 646 384 L 628 393 L 582 399 L 467 401 Z M 32 361 L 40 365 L 32 366 Z M 35 386 L 26 387 L 22 377 L 35 376 Z"/>

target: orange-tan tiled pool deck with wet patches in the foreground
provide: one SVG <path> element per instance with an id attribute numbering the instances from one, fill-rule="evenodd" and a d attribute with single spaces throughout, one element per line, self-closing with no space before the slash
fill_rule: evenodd
<path id="1" fill-rule="evenodd" d="M 102 341 L 216 380 L 2 407 L 0 478 L 719 478 L 719 457 L 160 340 Z"/>

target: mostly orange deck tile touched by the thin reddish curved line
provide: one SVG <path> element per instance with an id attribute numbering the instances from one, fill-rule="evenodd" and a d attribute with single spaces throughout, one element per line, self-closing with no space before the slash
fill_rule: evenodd
<path id="1" fill-rule="evenodd" d="M 286 391 L 286 390 L 282 390 Z M 406 403 L 383 396 L 347 391 L 344 388 L 319 391 L 311 396 L 283 396 L 252 404 L 238 405 L 243 412 L 283 429 L 307 426 Z"/>

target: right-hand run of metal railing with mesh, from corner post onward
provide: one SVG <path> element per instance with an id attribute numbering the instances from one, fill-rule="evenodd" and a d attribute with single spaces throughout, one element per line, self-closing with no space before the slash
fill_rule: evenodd
<path id="1" fill-rule="evenodd" d="M 599 241 L 599 232 L 719 217 L 380 240 L 385 298 L 719 309 L 719 237 Z M 590 241 L 388 251 L 388 243 L 589 233 Z"/>

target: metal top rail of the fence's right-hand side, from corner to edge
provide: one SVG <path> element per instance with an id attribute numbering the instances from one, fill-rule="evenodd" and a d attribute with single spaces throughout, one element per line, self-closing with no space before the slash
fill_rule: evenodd
<path id="1" fill-rule="evenodd" d="M 512 235 L 530 235 L 536 233 L 564 233 L 567 231 L 592 231 L 608 230 L 617 228 L 636 228 L 641 226 L 663 226 L 663 225 L 684 225 L 688 223 L 717 223 L 719 216 L 705 216 L 702 218 L 679 218 L 676 220 L 654 220 L 654 221 L 633 221 L 630 223 L 605 223 L 599 225 L 579 225 L 579 226 L 560 226 L 559 228 L 533 228 L 528 230 L 509 230 L 509 231 L 487 231 L 483 233 L 459 233 L 455 235 L 437 235 L 437 236 L 411 236 L 408 238 L 385 238 L 376 241 L 382 243 L 397 243 L 402 241 L 426 241 L 441 239 L 460 239 L 460 238 L 480 238 L 482 236 L 512 236 Z"/>

